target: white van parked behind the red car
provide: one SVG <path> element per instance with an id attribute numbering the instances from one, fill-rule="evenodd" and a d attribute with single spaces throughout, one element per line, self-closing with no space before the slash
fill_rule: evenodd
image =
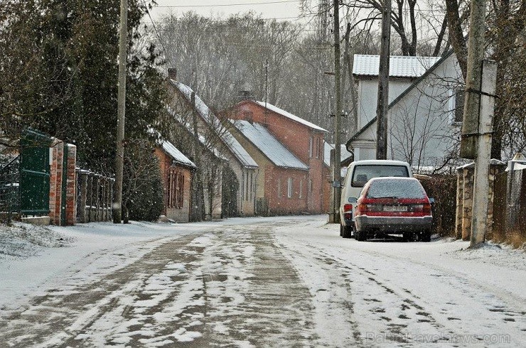
<path id="1" fill-rule="evenodd" d="M 340 200 L 340 236 L 354 236 L 354 207 L 363 186 L 371 178 L 385 176 L 412 178 L 411 166 L 407 162 L 390 160 L 365 160 L 350 163 L 345 174 Z"/>

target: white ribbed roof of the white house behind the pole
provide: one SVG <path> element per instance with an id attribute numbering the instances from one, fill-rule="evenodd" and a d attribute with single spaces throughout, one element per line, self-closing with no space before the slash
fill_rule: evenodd
<path id="1" fill-rule="evenodd" d="M 409 57 L 392 55 L 389 59 L 389 76 L 420 77 L 441 57 Z M 353 74 L 378 76 L 380 55 L 354 55 Z"/>

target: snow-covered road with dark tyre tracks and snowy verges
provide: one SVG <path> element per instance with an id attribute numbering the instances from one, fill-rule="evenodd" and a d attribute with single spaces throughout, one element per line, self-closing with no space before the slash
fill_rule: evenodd
<path id="1" fill-rule="evenodd" d="M 323 216 L 102 226 L 55 228 L 75 246 L 0 263 L 2 347 L 521 347 L 526 337 L 521 251 L 358 242 Z M 38 259 L 55 271 L 16 278 Z"/>

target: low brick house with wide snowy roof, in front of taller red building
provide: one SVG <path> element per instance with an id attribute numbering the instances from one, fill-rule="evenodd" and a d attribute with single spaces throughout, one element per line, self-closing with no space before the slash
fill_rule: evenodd
<path id="1" fill-rule="evenodd" d="M 308 212 L 309 168 L 291 153 L 262 124 L 245 120 L 233 121 L 232 134 L 259 165 L 257 175 L 250 177 L 257 214 L 298 214 Z M 248 194 L 248 193 L 247 193 Z M 250 192 L 252 198 L 252 192 Z"/>

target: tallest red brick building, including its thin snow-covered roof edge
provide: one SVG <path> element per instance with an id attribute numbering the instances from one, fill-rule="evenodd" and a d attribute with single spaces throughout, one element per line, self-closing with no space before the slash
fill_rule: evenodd
<path id="1" fill-rule="evenodd" d="M 327 131 L 279 107 L 265 102 L 244 100 L 225 111 L 230 119 L 260 124 L 307 166 L 304 183 L 306 212 L 325 212 L 324 197 L 330 195 L 323 189 L 323 138 Z M 328 199 L 328 198 L 327 198 Z"/>

